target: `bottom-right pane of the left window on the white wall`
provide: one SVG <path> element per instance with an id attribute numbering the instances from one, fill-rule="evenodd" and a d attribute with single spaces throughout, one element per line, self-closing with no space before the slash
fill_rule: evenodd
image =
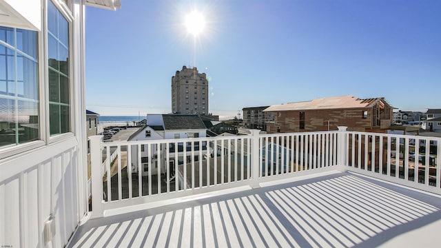
<path id="1" fill-rule="evenodd" d="M 19 143 L 39 138 L 39 106 L 30 101 L 19 101 Z"/>

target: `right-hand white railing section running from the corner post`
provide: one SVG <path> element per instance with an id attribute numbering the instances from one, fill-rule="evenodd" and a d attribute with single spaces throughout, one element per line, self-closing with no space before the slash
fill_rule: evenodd
<path id="1" fill-rule="evenodd" d="M 345 132 L 346 169 L 441 194 L 441 138 Z"/>

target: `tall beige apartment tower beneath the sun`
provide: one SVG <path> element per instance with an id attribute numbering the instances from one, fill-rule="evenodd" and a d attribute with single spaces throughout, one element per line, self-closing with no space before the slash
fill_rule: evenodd
<path id="1" fill-rule="evenodd" d="M 208 114 L 208 81 L 196 67 L 183 66 L 172 76 L 173 114 Z"/>

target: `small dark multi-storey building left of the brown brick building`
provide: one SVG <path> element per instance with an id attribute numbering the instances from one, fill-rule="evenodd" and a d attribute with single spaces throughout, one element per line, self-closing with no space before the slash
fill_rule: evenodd
<path id="1" fill-rule="evenodd" d="M 249 129 L 267 130 L 267 122 L 274 121 L 273 112 L 263 112 L 269 106 L 244 107 L 243 125 Z"/>

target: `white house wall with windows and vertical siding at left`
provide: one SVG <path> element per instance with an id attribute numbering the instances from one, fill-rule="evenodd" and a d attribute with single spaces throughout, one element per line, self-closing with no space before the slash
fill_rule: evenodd
<path id="1" fill-rule="evenodd" d="M 0 0 L 0 244 L 64 247 L 88 212 L 85 5 Z"/>

